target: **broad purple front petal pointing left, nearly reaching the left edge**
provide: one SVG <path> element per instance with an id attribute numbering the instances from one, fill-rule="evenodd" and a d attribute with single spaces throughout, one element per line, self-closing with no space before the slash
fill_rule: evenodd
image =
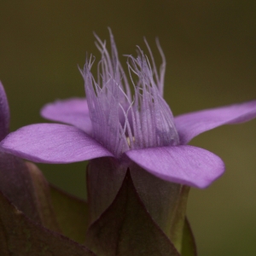
<path id="1" fill-rule="evenodd" d="M 1 143 L 9 153 L 41 163 L 63 164 L 113 156 L 84 131 L 70 125 L 27 125 Z"/>

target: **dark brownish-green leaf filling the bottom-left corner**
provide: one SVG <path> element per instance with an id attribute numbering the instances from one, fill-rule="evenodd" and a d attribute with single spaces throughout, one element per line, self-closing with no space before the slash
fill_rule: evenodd
<path id="1" fill-rule="evenodd" d="M 1 256 L 92 256 L 86 247 L 45 229 L 14 207 L 0 193 Z"/>

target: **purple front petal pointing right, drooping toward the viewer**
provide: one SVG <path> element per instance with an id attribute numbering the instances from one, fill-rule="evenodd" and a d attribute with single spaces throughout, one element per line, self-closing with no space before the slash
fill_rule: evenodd
<path id="1" fill-rule="evenodd" d="M 125 152 L 148 172 L 173 183 L 204 189 L 224 172 L 224 162 L 192 146 L 143 148 Z"/>

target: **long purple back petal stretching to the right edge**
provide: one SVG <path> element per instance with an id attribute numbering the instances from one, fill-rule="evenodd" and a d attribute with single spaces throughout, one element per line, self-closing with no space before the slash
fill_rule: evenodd
<path id="1" fill-rule="evenodd" d="M 256 101 L 185 113 L 175 118 L 180 143 L 189 141 L 204 131 L 220 125 L 238 124 L 256 117 Z"/>

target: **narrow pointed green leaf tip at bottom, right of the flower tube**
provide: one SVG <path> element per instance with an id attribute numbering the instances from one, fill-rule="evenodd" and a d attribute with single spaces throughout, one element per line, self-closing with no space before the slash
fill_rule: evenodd
<path id="1" fill-rule="evenodd" d="M 185 218 L 183 226 L 182 256 L 196 256 L 195 238 L 189 225 L 188 218 Z"/>

